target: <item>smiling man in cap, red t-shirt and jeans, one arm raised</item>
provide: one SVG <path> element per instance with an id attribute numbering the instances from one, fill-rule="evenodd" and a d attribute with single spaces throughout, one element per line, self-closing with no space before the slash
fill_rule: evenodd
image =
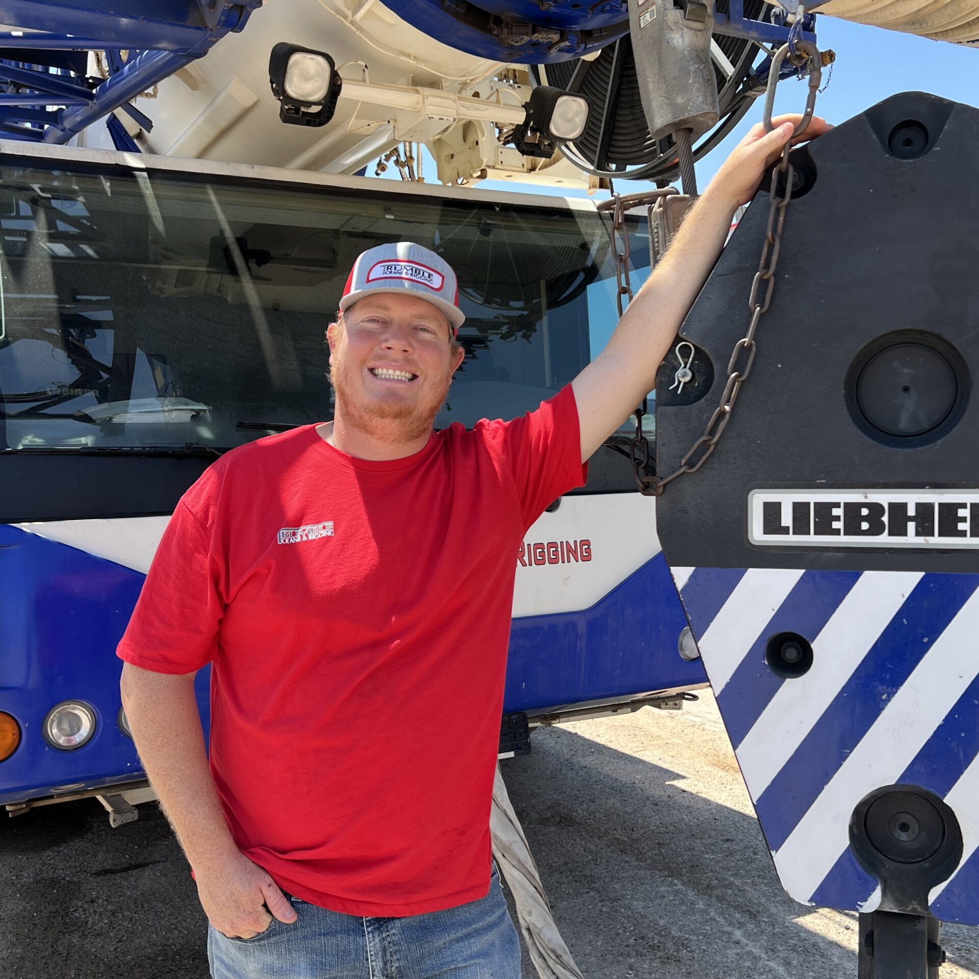
<path id="1" fill-rule="evenodd" d="M 489 842 L 517 548 L 652 388 L 793 121 L 752 130 L 607 349 L 506 424 L 433 433 L 454 273 L 406 243 L 360 256 L 333 423 L 228 453 L 180 501 L 118 655 L 215 979 L 519 976 Z"/>

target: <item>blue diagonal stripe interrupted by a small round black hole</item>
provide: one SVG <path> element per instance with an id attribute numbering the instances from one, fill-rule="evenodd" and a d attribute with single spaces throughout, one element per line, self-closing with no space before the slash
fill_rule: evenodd
<path id="1" fill-rule="evenodd" d="M 782 683 L 792 682 L 775 675 L 766 665 L 769 638 L 776 632 L 798 632 L 813 642 L 860 576 L 859 571 L 807 571 L 775 610 L 769 625 L 718 696 L 727 736 L 735 748 Z"/>

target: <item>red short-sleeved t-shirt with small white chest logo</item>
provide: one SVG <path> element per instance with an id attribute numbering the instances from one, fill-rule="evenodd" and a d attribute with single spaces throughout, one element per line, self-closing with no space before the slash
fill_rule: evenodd
<path id="1" fill-rule="evenodd" d="M 489 892 L 517 551 L 585 473 L 569 386 L 393 461 L 261 439 L 177 504 L 118 655 L 212 663 L 221 805 L 286 891 L 372 916 Z"/>

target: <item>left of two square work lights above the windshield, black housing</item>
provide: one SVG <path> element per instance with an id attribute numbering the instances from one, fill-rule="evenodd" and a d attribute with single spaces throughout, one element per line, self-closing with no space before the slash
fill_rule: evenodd
<path id="1" fill-rule="evenodd" d="M 333 118 L 344 84 L 328 54 L 284 41 L 272 48 L 268 83 L 283 122 L 312 126 Z"/>

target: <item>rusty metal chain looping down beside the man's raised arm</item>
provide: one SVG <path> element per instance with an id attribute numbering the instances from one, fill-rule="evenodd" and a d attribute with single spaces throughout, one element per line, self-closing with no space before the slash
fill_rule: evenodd
<path id="1" fill-rule="evenodd" d="M 809 126 L 810 119 L 816 109 L 816 94 L 819 89 L 819 81 L 822 74 L 822 65 L 819 51 L 815 44 L 809 41 L 797 41 L 796 47 L 800 52 L 798 58 L 800 67 L 803 64 L 809 65 L 809 95 L 806 102 L 806 109 L 802 120 L 796 126 L 793 137 L 801 135 Z M 784 45 L 775 57 L 771 60 L 771 70 L 769 71 L 769 87 L 765 101 L 765 111 L 763 122 L 765 128 L 772 129 L 771 112 L 774 104 L 775 85 L 778 82 L 778 72 L 782 62 L 786 57 L 790 57 L 789 45 Z M 795 56 L 791 56 L 795 57 Z M 737 400 L 741 385 L 748 379 L 752 365 L 755 363 L 755 355 L 758 346 L 755 341 L 755 334 L 762 316 L 765 315 L 771 305 L 771 295 L 775 286 L 775 269 L 778 265 L 778 256 L 781 251 L 782 231 L 785 226 L 785 209 L 792 200 L 792 183 L 795 169 L 789 162 L 789 152 L 792 147 L 792 140 L 785 143 L 782 156 L 771 173 L 771 183 L 769 186 L 769 223 L 765 234 L 765 242 L 762 246 L 762 257 L 758 263 L 758 271 L 751 283 L 751 291 L 748 296 L 748 309 L 751 318 L 748 321 L 748 330 L 745 335 L 734 345 L 730 359 L 727 361 L 727 382 L 724 384 L 721 403 L 718 405 L 714 414 L 711 415 L 704 428 L 703 435 L 693 443 L 686 454 L 680 459 L 679 466 L 663 479 L 659 479 L 649 473 L 649 443 L 642 434 L 642 416 L 646 411 L 646 401 L 643 398 L 642 405 L 635 412 L 635 436 L 629 447 L 629 460 L 635 473 L 639 491 L 647 496 L 659 496 L 660 493 L 678 477 L 686 473 L 695 473 L 710 458 L 718 444 L 718 440 L 723 435 L 727 423 L 731 419 L 731 412 L 734 402 Z M 779 193 L 779 187 L 781 192 Z M 604 203 L 604 202 L 603 202 Z M 622 199 L 618 195 L 614 198 L 614 203 L 609 204 L 600 210 L 613 210 L 613 230 L 612 243 L 613 251 L 616 256 L 616 280 L 619 284 L 619 292 L 616 300 L 619 304 L 619 315 L 622 316 L 623 295 L 628 295 L 632 299 L 632 291 L 629 287 L 629 236 L 625 231 L 623 221 L 624 209 Z M 625 257 L 616 247 L 617 229 L 621 227 L 622 235 L 626 239 Z M 623 271 L 624 269 L 624 271 Z M 625 285 L 624 285 L 625 283 Z M 765 284 L 764 290 L 762 284 Z M 764 293 L 764 295 L 761 295 Z"/>

